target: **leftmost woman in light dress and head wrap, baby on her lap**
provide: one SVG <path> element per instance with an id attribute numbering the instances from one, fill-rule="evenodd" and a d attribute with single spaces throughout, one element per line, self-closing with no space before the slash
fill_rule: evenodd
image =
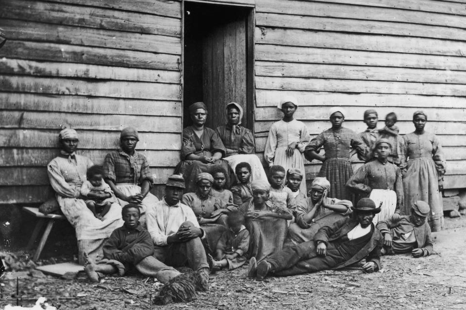
<path id="1" fill-rule="evenodd" d="M 76 154 L 79 138 L 74 129 L 63 129 L 58 142 L 60 155 L 53 158 L 47 166 L 50 185 L 56 192 L 60 209 L 76 230 L 79 263 L 84 264 L 84 253 L 99 261 L 103 259 L 104 241 L 123 224 L 121 206 L 113 203 L 103 221 L 94 216 L 80 194 L 81 186 L 86 181 L 87 169 L 93 163 L 89 158 Z"/>

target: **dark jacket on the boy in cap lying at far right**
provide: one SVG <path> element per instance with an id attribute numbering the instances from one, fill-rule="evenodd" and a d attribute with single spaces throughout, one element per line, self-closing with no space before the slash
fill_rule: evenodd
<path id="1" fill-rule="evenodd" d="M 433 252 L 433 244 L 431 238 L 431 227 L 424 222 L 421 226 L 415 226 L 411 223 L 409 216 L 402 216 L 399 221 L 386 220 L 377 223 L 377 229 L 383 234 L 389 233 L 392 236 L 393 242 L 397 242 L 401 238 L 401 234 L 414 231 L 416 237 L 417 248 L 424 250 L 424 256 L 430 255 Z"/>

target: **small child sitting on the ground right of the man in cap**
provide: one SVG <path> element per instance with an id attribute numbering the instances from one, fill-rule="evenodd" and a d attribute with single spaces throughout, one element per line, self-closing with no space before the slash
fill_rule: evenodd
<path id="1" fill-rule="evenodd" d="M 216 260 L 209 257 L 210 268 L 213 272 L 225 269 L 233 270 L 246 263 L 246 253 L 249 249 L 250 234 L 244 226 L 244 215 L 233 211 L 228 215 L 229 229 L 218 240 Z"/>

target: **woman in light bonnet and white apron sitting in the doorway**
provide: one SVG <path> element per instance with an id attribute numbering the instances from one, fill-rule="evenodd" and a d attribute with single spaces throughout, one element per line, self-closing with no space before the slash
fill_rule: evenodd
<path id="1" fill-rule="evenodd" d="M 251 166 L 252 180 L 267 180 L 266 171 L 257 155 L 254 154 L 254 137 L 252 132 L 241 126 L 243 118 L 243 108 L 236 102 L 230 102 L 226 107 L 227 124 L 218 126 L 216 133 L 225 145 L 225 159 L 230 167 L 235 171 L 236 165 L 247 162 Z"/>

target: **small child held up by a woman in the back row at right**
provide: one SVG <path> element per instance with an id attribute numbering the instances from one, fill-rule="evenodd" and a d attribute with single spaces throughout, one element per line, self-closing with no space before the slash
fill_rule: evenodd
<path id="1" fill-rule="evenodd" d="M 395 112 L 388 113 L 385 116 L 385 127 L 379 130 L 379 134 L 380 138 L 387 139 L 392 145 L 388 161 L 400 167 L 400 165 L 404 166 L 405 157 L 404 142 L 399 135 L 399 128 L 395 125 L 397 121 L 397 114 Z"/>

